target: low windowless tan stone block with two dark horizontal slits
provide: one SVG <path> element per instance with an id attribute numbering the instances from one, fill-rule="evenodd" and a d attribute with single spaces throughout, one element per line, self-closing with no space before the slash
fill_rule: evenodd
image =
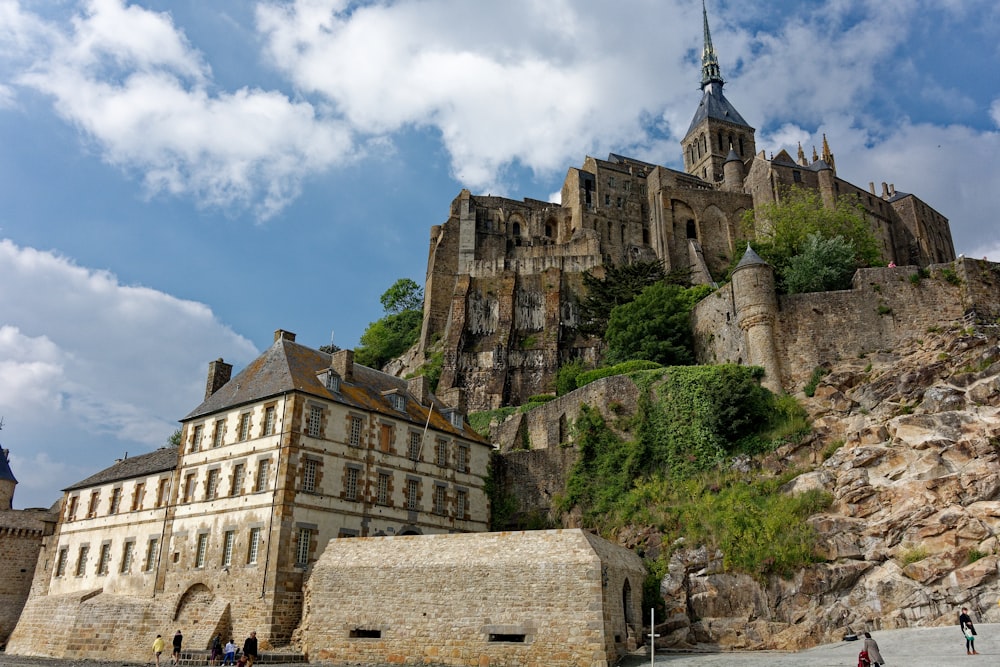
<path id="1" fill-rule="evenodd" d="M 580 530 L 339 540 L 298 638 L 312 662 L 605 667 L 640 641 L 644 578 Z"/>

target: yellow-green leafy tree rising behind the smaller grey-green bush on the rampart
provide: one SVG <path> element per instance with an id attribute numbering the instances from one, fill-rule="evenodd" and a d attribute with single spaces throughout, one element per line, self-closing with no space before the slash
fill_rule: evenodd
<path id="1" fill-rule="evenodd" d="M 856 197 L 839 197 L 836 205 L 828 208 L 816 190 L 792 187 L 782 193 L 780 201 L 747 211 L 743 224 L 748 232 L 756 228 L 753 247 L 774 267 L 781 291 L 790 291 L 786 280 L 789 264 L 792 257 L 806 252 L 811 235 L 823 240 L 841 237 L 853 251 L 853 268 L 882 261 L 878 241 Z M 834 273 L 841 270 L 840 255 L 832 248 L 814 245 L 809 252 L 810 262 L 832 260 L 838 264 Z M 801 270 L 796 280 L 800 277 Z"/>

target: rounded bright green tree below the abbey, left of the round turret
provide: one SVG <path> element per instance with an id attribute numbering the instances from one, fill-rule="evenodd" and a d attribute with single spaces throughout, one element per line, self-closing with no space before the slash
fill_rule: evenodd
<path id="1" fill-rule="evenodd" d="M 685 289 L 658 282 L 634 301 L 616 307 L 604 334 L 608 363 L 631 359 L 671 366 L 694 363 L 691 309 L 709 292 L 707 285 Z"/>

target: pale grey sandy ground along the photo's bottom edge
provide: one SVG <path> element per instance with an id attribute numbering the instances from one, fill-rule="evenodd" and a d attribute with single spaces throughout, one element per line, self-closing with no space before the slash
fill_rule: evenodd
<path id="1" fill-rule="evenodd" d="M 1000 664 L 1000 624 L 976 626 L 976 650 L 966 655 L 965 638 L 958 625 L 943 628 L 907 628 L 872 633 L 882 650 L 885 664 L 895 667 L 952 667 L 957 665 L 993 667 Z M 861 642 L 837 642 L 795 653 L 758 652 L 664 652 L 654 656 L 656 665 L 667 667 L 856 667 Z M 170 661 L 161 661 L 169 667 Z M 316 663 L 310 663 L 316 664 Z M 630 656 L 622 667 L 651 664 L 648 653 Z M 0 667 L 147 667 L 149 663 L 99 662 L 94 660 L 52 660 L 0 653 Z M 279 667 L 267 665 L 266 667 Z M 292 666 L 290 666 L 292 667 Z M 301 664 L 294 667 L 302 667 Z"/>

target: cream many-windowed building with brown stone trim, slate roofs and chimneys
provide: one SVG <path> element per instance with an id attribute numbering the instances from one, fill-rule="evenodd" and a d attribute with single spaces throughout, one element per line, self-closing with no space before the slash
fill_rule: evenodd
<path id="1" fill-rule="evenodd" d="M 231 374 L 209 365 L 179 447 L 64 490 L 12 652 L 134 659 L 177 628 L 193 648 L 251 630 L 285 644 L 331 538 L 487 529 L 492 447 L 424 378 L 282 330 Z"/>

